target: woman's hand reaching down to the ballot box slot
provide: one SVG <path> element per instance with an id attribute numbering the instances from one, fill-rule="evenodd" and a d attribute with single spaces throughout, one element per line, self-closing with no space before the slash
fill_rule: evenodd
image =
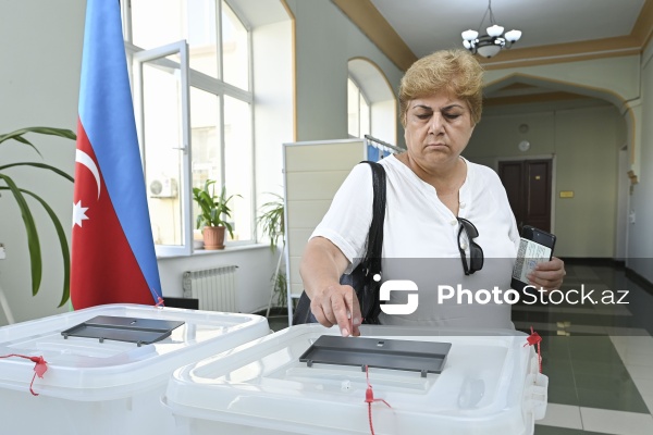
<path id="1" fill-rule="evenodd" d="M 330 285 L 321 291 L 313 293 L 310 310 L 323 326 L 338 325 L 343 337 L 360 335 L 360 303 L 352 286 Z"/>

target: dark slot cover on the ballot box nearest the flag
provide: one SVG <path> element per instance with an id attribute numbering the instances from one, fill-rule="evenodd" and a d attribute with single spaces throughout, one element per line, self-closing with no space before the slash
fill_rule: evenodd
<path id="1" fill-rule="evenodd" d="M 183 324 L 184 322 L 171 320 L 97 315 L 63 331 L 61 335 L 64 338 L 97 338 L 100 343 L 110 339 L 140 346 L 162 340 Z"/>

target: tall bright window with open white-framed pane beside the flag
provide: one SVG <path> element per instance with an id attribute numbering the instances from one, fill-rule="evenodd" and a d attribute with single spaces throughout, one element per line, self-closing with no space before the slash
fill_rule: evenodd
<path id="1" fill-rule="evenodd" d="M 192 187 L 209 178 L 237 195 L 227 243 L 254 241 L 249 29 L 224 0 L 131 0 L 123 16 L 157 254 L 192 252 Z"/>

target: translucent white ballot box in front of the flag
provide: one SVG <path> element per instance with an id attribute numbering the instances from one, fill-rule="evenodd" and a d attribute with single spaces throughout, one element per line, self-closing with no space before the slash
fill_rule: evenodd
<path id="1" fill-rule="evenodd" d="M 42 357 L 47 370 L 38 377 L 29 359 L 0 359 L 0 432 L 175 434 L 161 402 L 172 372 L 269 332 L 259 315 L 138 304 L 1 327 L 0 357 Z"/>

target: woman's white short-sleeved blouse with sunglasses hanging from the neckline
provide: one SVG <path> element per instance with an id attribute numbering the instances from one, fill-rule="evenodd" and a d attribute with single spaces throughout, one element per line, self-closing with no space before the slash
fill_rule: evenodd
<path id="1" fill-rule="evenodd" d="M 465 159 L 464 159 L 465 160 Z M 410 279 L 418 286 L 419 307 L 412 314 L 381 313 L 383 324 L 434 325 L 456 327 L 513 327 L 510 306 L 496 303 L 502 297 L 475 300 L 481 289 L 495 286 L 504 294 L 509 289 L 519 233 L 505 189 L 494 171 L 486 166 L 467 164 L 467 178 L 459 190 L 458 216 L 478 228 L 475 238 L 483 250 L 481 271 L 466 276 L 463 270 L 458 240 L 469 247 L 465 231 L 458 237 L 459 223 L 452 211 L 440 201 L 435 188 L 420 179 L 394 156 L 380 162 L 387 176 L 386 209 L 383 225 L 383 281 Z M 336 192 L 322 222 L 312 237 L 331 240 L 350 264 L 358 264 L 366 252 L 366 241 L 372 219 L 372 172 L 367 163 L 356 165 Z M 461 303 L 453 290 L 465 289 Z M 460 291 L 458 291 L 460 293 Z M 468 296 L 472 303 L 467 303 Z M 439 295 L 442 296 L 439 298 Z M 392 291 L 390 303 L 405 303 L 404 291 Z"/>

